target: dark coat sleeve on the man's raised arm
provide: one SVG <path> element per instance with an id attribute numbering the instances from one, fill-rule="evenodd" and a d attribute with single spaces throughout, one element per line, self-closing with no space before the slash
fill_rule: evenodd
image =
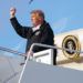
<path id="1" fill-rule="evenodd" d="M 30 38 L 30 31 L 31 31 L 31 28 L 30 27 L 22 27 L 19 22 L 18 22 L 18 20 L 17 20 L 17 18 L 11 18 L 10 19 L 10 22 L 11 22 L 11 24 L 12 24 L 12 27 L 14 28 L 14 30 L 15 30 L 15 32 L 20 35 L 20 37 L 22 37 L 22 38 Z"/>

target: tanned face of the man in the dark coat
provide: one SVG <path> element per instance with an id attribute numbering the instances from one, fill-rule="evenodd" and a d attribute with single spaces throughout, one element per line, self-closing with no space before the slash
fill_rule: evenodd
<path id="1" fill-rule="evenodd" d="M 37 27 L 42 23 L 42 18 L 39 15 L 39 13 L 32 13 L 31 21 L 32 21 L 33 27 Z"/>

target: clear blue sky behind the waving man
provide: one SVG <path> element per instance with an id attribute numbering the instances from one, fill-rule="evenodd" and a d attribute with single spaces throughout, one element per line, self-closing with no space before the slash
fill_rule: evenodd
<path id="1" fill-rule="evenodd" d="M 0 0 L 0 45 L 24 52 L 25 39 L 20 38 L 10 23 L 10 8 L 17 8 L 17 19 L 31 25 L 30 12 L 41 9 L 55 34 L 83 28 L 83 0 Z"/>

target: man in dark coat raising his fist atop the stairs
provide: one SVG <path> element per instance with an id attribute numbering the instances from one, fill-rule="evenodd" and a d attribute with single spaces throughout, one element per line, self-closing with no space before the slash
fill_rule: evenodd
<path id="1" fill-rule="evenodd" d="M 22 27 L 15 18 L 15 12 L 17 10 L 14 8 L 11 8 L 10 21 L 12 27 L 17 31 L 17 33 L 20 37 L 28 40 L 25 52 L 29 52 L 31 54 L 31 53 L 39 52 L 46 49 L 46 48 L 34 46 L 32 52 L 30 52 L 29 50 L 32 43 L 42 43 L 42 44 L 49 44 L 49 45 L 54 44 L 53 31 L 50 24 L 44 20 L 45 18 L 44 13 L 41 10 L 33 10 L 31 12 L 32 27 Z M 54 50 L 53 64 L 55 64 L 55 58 L 56 58 L 56 50 Z"/>

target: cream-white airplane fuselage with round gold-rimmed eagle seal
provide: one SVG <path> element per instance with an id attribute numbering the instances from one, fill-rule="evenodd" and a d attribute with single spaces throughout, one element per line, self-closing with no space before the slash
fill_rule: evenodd
<path id="1" fill-rule="evenodd" d="M 59 48 L 79 51 L 58 50 L 58 65 L 83 71 L 83 29 L 58 34 L 54 43 Z"/>

